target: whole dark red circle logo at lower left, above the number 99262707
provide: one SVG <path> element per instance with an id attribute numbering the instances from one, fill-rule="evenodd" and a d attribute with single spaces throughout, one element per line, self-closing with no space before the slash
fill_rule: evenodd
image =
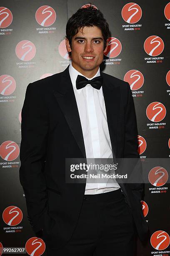
<path id="1" fill-rule="evenodd" d="M 2 218 L 7 225 L 16 226 L 23 219 L 23 212 L 17 206 L 8 206 L 3 211 Z"/>

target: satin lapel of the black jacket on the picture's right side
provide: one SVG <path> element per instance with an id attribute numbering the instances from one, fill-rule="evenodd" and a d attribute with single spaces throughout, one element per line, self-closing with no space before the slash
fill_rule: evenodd
<path id="1" fill-rule="evenodd" d="M 114 83 L 114 77 L 110 79 L 103 74 L 103 96 L 107 115 L 107 124 L 112 145 L 113 159 L 117 156 L 117 120 L 120 113 L 120 87 Z"/>

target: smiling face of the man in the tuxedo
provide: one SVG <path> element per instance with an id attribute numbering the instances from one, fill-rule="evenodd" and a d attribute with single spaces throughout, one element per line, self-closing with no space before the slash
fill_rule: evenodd
<path id="1" fill-rule="evenodd" d="M 93 77 L 102 63 L 104 41 L 100 28 L 84 27 L 72 37 L 72 45 L 66 38 L 67 51 L 71 51 L 72 66 L 84 76 Z"/>

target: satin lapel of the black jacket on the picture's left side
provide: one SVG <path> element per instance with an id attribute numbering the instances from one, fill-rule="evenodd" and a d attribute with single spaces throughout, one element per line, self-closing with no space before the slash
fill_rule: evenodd
<path id="1" fill-rule="evenodd" d="M 62 112 L 65 115 L 65 119 L 67 120 L 67 123 L 70 127 L 70 130 L 72 131 L 73 136 L 75 137 L 82 155 L 84 158 L 86 158 L 80 116 L 78 113 L 77 103 L 74 90 L 72 88 L 68 67 L 62 73 L 60 84 L 57 84 L 56 89 L 53 90 L 53 93 L 58 104 L 60 105 Z"/>

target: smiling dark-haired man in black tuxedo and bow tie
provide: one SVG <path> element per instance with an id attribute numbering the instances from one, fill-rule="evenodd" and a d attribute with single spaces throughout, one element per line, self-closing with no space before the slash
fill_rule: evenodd
<path id="1" fill-rule="evenodd" d="M 141 184 L 65 181 L 66 159 L 139 157 L 130 86 L 100 72 L 109 36 L 99 10 L 79 9 L 66 27 L 72 64 L 26 90 L 20 182 L 50 256 L 131 256 L 136 229 L 147 233 Z"/>

